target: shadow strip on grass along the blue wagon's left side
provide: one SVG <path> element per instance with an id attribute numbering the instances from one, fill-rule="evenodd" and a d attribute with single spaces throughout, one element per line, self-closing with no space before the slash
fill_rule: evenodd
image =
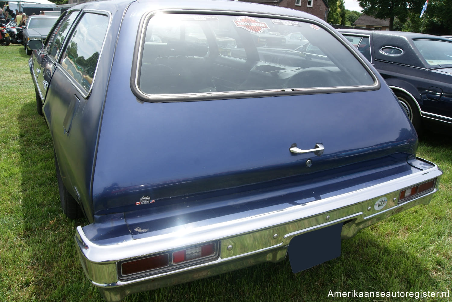
<path id="1" fill-rule="evenodd" d="M 89 301 L 92 297 L 102 301 L 75 251 L 75 227 L 86 222 L 71 221 L 62 214 L 52 139 L 45 120 L 36 113 L 36 103 L 26 102 L 18 120 L 24 253 L 29 262 L 24 272 L 29 297 L 21 301 Z"/>

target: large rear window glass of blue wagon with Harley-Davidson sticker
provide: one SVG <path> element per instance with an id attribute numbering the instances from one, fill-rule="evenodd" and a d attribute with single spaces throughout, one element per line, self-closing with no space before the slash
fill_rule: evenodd
<path id="1" fill-rule="evenodd" d="M 143 34 L 138 67 L 137 88 L 148 95 L 375 83 L 325 29 L 248 16 L 156 14 Z"/>

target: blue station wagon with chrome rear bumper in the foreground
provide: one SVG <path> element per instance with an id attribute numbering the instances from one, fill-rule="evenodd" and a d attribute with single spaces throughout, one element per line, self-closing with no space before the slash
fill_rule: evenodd
<path id="1" fill-rule="evenodd" d="M 320 57 L 264 58 L 252 37 L 276 26 L 299 30 Z M 221 51 L 216 33 L 243 53 Z M 391 89 L 311 14 L 92 1 L 28 46 L 61 206 L 89 221 L 76 249 L 107 301 L 287 253 L 294 272 L 312 267 L 438 190 L 442 172 L 415 156 Z"/>

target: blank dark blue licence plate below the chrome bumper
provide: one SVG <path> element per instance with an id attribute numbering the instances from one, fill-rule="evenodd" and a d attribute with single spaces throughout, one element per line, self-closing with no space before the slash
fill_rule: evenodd
<path id="1" fill-rule="evenodd" d="M 292 238 L 287 248 L 292 272 L 298 273 L 340 256 L 342 223 Z"/>

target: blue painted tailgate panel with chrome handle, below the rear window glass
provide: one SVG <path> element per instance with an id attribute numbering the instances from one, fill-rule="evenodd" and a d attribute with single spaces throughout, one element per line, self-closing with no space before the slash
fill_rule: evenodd
<path id="1" fill-rule="evenodd" d="M 129 112 L 129 113 L 127 113 Z M 323 153 L 292 153 L 289 149 Z M 417 137 L 391 91 L 202 102 L 106 103 L 95 214 L 179 204 L 302 181 L 415 153 Z M 364 164 L 365 165 L 365 164 Z M 209 195 L 200 197 L 199 194 Z M 196 197 L 199 196 L 199 197 Z"/>

